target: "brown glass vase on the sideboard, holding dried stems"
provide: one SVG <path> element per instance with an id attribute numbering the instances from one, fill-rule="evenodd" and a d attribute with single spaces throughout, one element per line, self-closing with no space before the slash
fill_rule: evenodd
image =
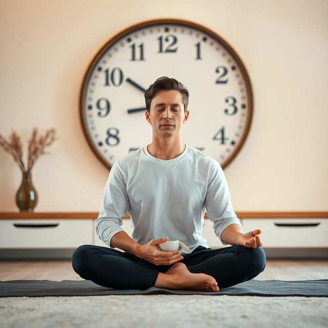
<path id="1" fill-rule="evenodd" d="M 33 212 L 37 203 L 37 192 L 31 180 L 31 172 L 23 172 L 23 181 L 16 193 L 16 204 L 20 212 Z"/>

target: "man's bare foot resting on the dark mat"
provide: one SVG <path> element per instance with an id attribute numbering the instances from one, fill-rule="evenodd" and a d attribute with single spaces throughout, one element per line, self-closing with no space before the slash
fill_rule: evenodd
<path id="1" fill-rule="evenodd" d="M 204 273 L 191 273 L 187 265 L 174 263 L 166 273 L 159 273 L 155 287 L 169 289 L 186 289 L 193 291 L 218 292 L 216 280 Z"/>

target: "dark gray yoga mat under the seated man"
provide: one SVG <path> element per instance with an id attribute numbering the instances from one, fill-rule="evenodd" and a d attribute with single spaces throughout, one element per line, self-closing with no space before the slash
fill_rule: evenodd
<path id="1" fill-rule="evenodd" d="M 91 280 L 8 280 L 0 281 L 0 297 L 10 296 L 94 296 L 94 295 L 234 295 L 234 296 L 316 296 L 328 297 L 328 279 L 256 280 L 241 282 L 219 292 L 170 290 L 151 287 L 147 290 L 118 290 L 99 286 Z"/>

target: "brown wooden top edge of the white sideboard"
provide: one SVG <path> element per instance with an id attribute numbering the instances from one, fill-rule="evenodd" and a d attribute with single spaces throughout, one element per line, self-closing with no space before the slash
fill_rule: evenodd
<path id="1" fill-rule="evenodd" d="M 0 219 L 96 219 L 98 212 L 0 212 Z M 238 218 L 328 218 L 328 212 L 236 212 Z M 129 219 L 127 213 L 122 219 Z M 208 213 L 205 212 L 205 219 Z"/>

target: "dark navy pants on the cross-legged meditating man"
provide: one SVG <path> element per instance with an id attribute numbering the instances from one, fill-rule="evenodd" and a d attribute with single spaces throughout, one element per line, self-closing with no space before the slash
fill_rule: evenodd
<path id="1" fill-rule="evenodd" d="M 205 273 L 215 278 L 219 289 L 251 280 L 265 268 L 262 248 L 233 245 L 212 250 L 198 246 L 190 254 L 181 254 L 191 273 Z M 129 252 L 108 247 L 81 245 L 72 256 L 72 267 L 83 279 L 114 289 L 145 290 L 155 285 L 159 272 L 170 265 L 155 265 Z"/>

